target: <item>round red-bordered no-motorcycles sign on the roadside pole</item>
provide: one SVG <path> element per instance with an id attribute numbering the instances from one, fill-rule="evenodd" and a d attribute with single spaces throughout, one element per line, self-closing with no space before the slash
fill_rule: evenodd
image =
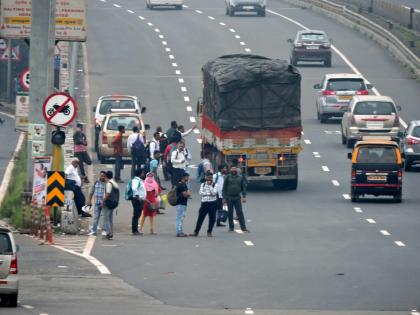
<path id="1" fill-rule="evenodd" d="M 64 127 L 76 117 L 77 103 L 66 93 L 54 93 L 44 101 L 42 114 L 47 123 Z"/>

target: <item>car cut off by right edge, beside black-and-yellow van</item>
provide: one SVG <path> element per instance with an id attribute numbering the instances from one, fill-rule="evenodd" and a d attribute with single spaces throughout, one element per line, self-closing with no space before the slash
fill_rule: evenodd
<path id="1" fill-rule="evenodd" d="M 402 140 L 402 148 L 405 154 L 404 169 L 408 172 L 413 165 L 420 164 L 420 120 L 409 123 Z"/>

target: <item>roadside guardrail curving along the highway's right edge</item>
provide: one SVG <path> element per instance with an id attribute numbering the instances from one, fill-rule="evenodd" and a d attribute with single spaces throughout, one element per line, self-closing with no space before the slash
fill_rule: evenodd
<path id="1" fill-rule="evenodd" d="M 311 8 L 314 11 L 321 10 L 322 13 L 327 14 L 343 24 L 353 27 L 387 48 L 402 65 L 409 68 L 416 78 L 420 78 L 420 58 L 408 49 L 394 34 L 363 15 L 347 9 L 344 5 L 333 3 L 328 0 L 284 1 L 293 5 Z"/>

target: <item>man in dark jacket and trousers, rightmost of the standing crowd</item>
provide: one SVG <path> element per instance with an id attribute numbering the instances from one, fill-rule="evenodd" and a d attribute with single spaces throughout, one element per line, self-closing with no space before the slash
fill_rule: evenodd
<path id="1" fill-rule="evenodd" d="M 223 183 L 223 203 L 228 206 L 229 231 L 233 231 L 233 208 L 239 219 L 239 224 L 243 232 L 249 232 L 246 228 L 245 217 L 242 211 L 242 204 L 246 202 L 246 181 L 242 175 L 238 174 L 236 166 L 231 166 L 230 174 L 228 174 Z M 241 197 L 242 194 L 242 197 Z"/>

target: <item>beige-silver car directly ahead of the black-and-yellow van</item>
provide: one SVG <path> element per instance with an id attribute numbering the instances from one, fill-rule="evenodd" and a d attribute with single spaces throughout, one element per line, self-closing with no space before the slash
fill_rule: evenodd
<path id="1" fill-rule="evenodd" d="M 392 98 L 355 95 L 341 120 L 342 143 L 352 148 L 363 136 L 387 136 L 399 140 L 400 119 Z"/>

